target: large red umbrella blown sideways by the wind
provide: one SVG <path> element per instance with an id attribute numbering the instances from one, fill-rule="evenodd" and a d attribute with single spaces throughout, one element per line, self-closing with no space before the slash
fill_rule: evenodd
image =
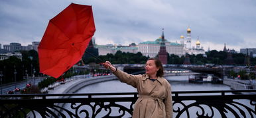
<path id="1" fill-rule="evenodd" d="M 71 3 L 50 19 L 38 45 L 40 73 L 58 78 L 78 63 L 96 28 L 92 6 Z"/>

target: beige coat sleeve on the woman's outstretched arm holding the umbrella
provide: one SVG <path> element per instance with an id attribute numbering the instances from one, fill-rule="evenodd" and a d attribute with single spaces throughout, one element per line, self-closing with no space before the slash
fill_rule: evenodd
<path id="1" fill-rule="evenodd" d="M 135 88 L 137 88 L 137 85 L 139 84 L 139 77 L 142 75 L 133 75 L 133 74 L 128 74 L 125 73 L 119 69 L 117 71 L 113 72 L 115 76 L 121 81 L 125 82 L 126 84 L 129 84 Z"/>

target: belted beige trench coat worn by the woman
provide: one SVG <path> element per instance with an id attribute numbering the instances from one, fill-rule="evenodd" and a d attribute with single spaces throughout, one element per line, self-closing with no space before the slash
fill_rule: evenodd
<path id="1" fill-rule="evenodd" d="M 119 69 L 113 74 L 121 82 L 137 88 L 139 98 L 135 103 L 133 118 L 172 117 L 172 94 L 166 79 L 158 77 L 153 82 L 147 74 L 127 74 Z"/>

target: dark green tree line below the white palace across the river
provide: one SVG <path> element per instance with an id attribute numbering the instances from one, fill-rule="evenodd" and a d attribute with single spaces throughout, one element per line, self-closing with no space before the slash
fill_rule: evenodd
<path id="1" fill-rule="evenodd" d="M 207 51 L 205 55 L 198 54 L 198 55 L 188 55 L 190 58 L 190 63 L 192 65 L 205 65 L 206 63 L 213 63 L 216 65 L 227 65 L 227 52 L 225 51 Z M 245 55 L 243 53 L 232 53 L 231 54 L 233 65 L 245 65 Z M 121 51 L 117 51 L 114 55 L 111 53 L 107 53 L 107 55 L 99 55 L 97 57 L 89 57 L 88 59 L 84 60 L 84 63 L 101 63 L 102 61 L 110 61 L 111 63 L 118 63 L 118 64 L 143 64 L 147 62 L 149 57 L 145 57 L 142 55 L 141 52 L 138 53 L 125 53 Z M 179 57 L 178 55 L 168 54 L 167 63 L 168 64 L 175 64 L 175 65 L 182 65 L 184 63 L 185 56 L 182 55 Z M 250 64 L 256 65 L 256 57 L 250 57 Z"/>

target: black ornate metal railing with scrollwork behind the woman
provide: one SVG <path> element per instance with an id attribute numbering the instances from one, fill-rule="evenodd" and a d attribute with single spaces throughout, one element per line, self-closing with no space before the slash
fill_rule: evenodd
<path id="1" fill-rule="evenodd" d="M 235 93 L 235 94 L 233 94 Z M 1 117 L 131 117 L 137 93 L 1 95 Z M 174 117 L 256 117 L 256 90 L 172 92 Z"/>

